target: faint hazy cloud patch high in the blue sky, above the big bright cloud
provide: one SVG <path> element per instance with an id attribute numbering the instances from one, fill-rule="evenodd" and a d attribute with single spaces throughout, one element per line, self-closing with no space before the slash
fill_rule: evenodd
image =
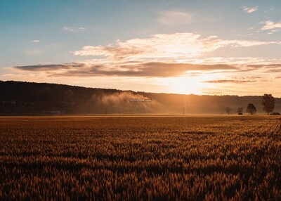
<path id="1" fill-rule="evenodd" d="M 157 22 L 163 25 L 185 25 L 192 22 L 192 14 L 182 11 L 161 11 Z"/>

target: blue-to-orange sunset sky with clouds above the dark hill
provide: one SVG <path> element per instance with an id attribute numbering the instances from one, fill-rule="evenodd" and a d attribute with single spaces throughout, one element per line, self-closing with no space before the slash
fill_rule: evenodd
<path id="1" fill-rule="evenodd" d="M 0 80 L 280 97 L 281 1 L 0 1 Z"/>

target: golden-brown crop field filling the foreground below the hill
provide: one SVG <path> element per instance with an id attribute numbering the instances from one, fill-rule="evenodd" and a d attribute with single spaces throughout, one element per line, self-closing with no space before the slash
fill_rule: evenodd
<path id="1" fill-rule="evenodd" d="M 281 119 L 1 117 L 0 200 L 280 200 Z"/>

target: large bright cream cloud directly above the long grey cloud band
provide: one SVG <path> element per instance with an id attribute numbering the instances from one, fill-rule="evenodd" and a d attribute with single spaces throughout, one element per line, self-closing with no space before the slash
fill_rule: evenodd
<path id="1" fill-rule="evenodd" d="M 216 36 L 202 38 L 200 34 L 184 32 L 154 34 L 146 39 L 117 40 L 115 44 L 107 46 L 84 46 L 73 53 L 76 56 L 105 56 L 115 60 L 159 61 L 195 58 L 223 47 L 250 47 L 267 44 L 280 44 L 280 42 L 223 40 Z"/>

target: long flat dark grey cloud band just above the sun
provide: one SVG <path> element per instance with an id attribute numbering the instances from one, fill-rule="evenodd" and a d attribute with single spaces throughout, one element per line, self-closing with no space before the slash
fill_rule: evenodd
<path id="1" fill-rule="evenodd" d="M 139 63 L 138 65 L 106 65 L 68 63 L 59 65 L 15 66 L 19 70 L 46 72 L 50 76 L 123 76 L 123 77 L 174 77 L 189 71 L 236 70 L 231 65 L 195 65 L 188 63 Z"/>

